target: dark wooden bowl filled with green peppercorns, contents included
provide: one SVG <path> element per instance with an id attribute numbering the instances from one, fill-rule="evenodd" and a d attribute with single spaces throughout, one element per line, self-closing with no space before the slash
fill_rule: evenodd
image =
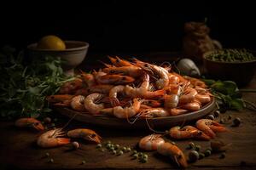
<path id="1" fill-rule="evenodd" d="M 256 57 L 247 49 L 219 49 L 203 55 L 207 76 L 217 80 L 230 80 L 239 87 L 253 79 Z"/>

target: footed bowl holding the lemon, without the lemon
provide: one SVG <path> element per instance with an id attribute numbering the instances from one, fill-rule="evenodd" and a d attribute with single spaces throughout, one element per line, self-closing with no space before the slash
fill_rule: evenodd
<path id="1" fill-rule="evenodd" d="M 73 69 L 77 67 L 85 58 L 87 54 L 89 43 L 79 41 L 65 41 L 66 49 L 64 50 L 49 50 L 38 49 L 38 43 L 32 43 L 27 46 L 30 57 L 45 57 L 47 55 L 52 57 L 61 57 L 64 60 L 62 65 L 63 71 L 67 75 L 73 75 Z"/>

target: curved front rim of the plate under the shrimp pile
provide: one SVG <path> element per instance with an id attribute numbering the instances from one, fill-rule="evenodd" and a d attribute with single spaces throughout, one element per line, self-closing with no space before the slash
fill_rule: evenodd
<path id="1" fill-rule="evenodd" d="M 150 127 L 163 128 L 172 127 L 175 125 L 182 125 L 184 122 L 191 122 L 200 119 L 203 116 L 207 116 L 212 111 L 215 111 L 215 99 L 212 98 L 211 102 L 201 108 L 200 111 L 193 111 L 183 115 L 178 116 L 166 116 L 166 117 L 156 117 L 146 119 L 137 119 L 134 123 L 127 122 L 126 119 L 119 119 L 117 117 L 109 116 L 92 116 L 88 113 L 73 111 L 67 107 L 55 106 L 55 111 L 61 113 L 61 115 L 68 116 L 79 122 L 86 122 L 89 124 L 98 125 L 101 127 L 113 127 L 113 128 L 148 128 L 148 123 Z M 131 119 L 131 122 L 133 120 Z"/>

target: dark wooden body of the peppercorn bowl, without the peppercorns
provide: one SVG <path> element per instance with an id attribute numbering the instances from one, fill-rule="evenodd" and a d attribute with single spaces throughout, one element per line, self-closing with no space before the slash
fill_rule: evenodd
<path id="1" fill-rule="evenodd" d="M 203 56 L 203 65 L 209 75 L 217 80 L 230 80 L 236 82 L 239 87 L 246 86 L 253 79 L 256 60 L 245 62 L 222 62 L 207 59 L 207 52 Z"/>

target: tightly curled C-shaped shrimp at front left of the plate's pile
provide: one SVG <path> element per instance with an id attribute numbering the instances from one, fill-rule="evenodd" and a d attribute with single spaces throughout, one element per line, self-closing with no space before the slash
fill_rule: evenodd
<path id="1" fill-rule="evenodd" d="M 98 114 L 102 109 L 104 109 L 104 104 L 96 104 L 96 101 L 102 99 L 103 94 L 90 94 L 84 99 L 84 107 L 91 114 Z"/>

